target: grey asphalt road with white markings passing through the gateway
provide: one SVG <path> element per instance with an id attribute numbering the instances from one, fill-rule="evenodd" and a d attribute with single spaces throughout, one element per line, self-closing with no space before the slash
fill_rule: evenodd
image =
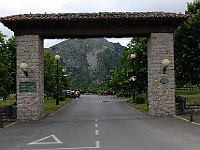
<path id="1" fill-rule="evenodd" d="M 0 150 L 199 150 L 200 126 L 136 111 L 124 99 L 81 95 L 41 121 L 0 129 Z"/>

